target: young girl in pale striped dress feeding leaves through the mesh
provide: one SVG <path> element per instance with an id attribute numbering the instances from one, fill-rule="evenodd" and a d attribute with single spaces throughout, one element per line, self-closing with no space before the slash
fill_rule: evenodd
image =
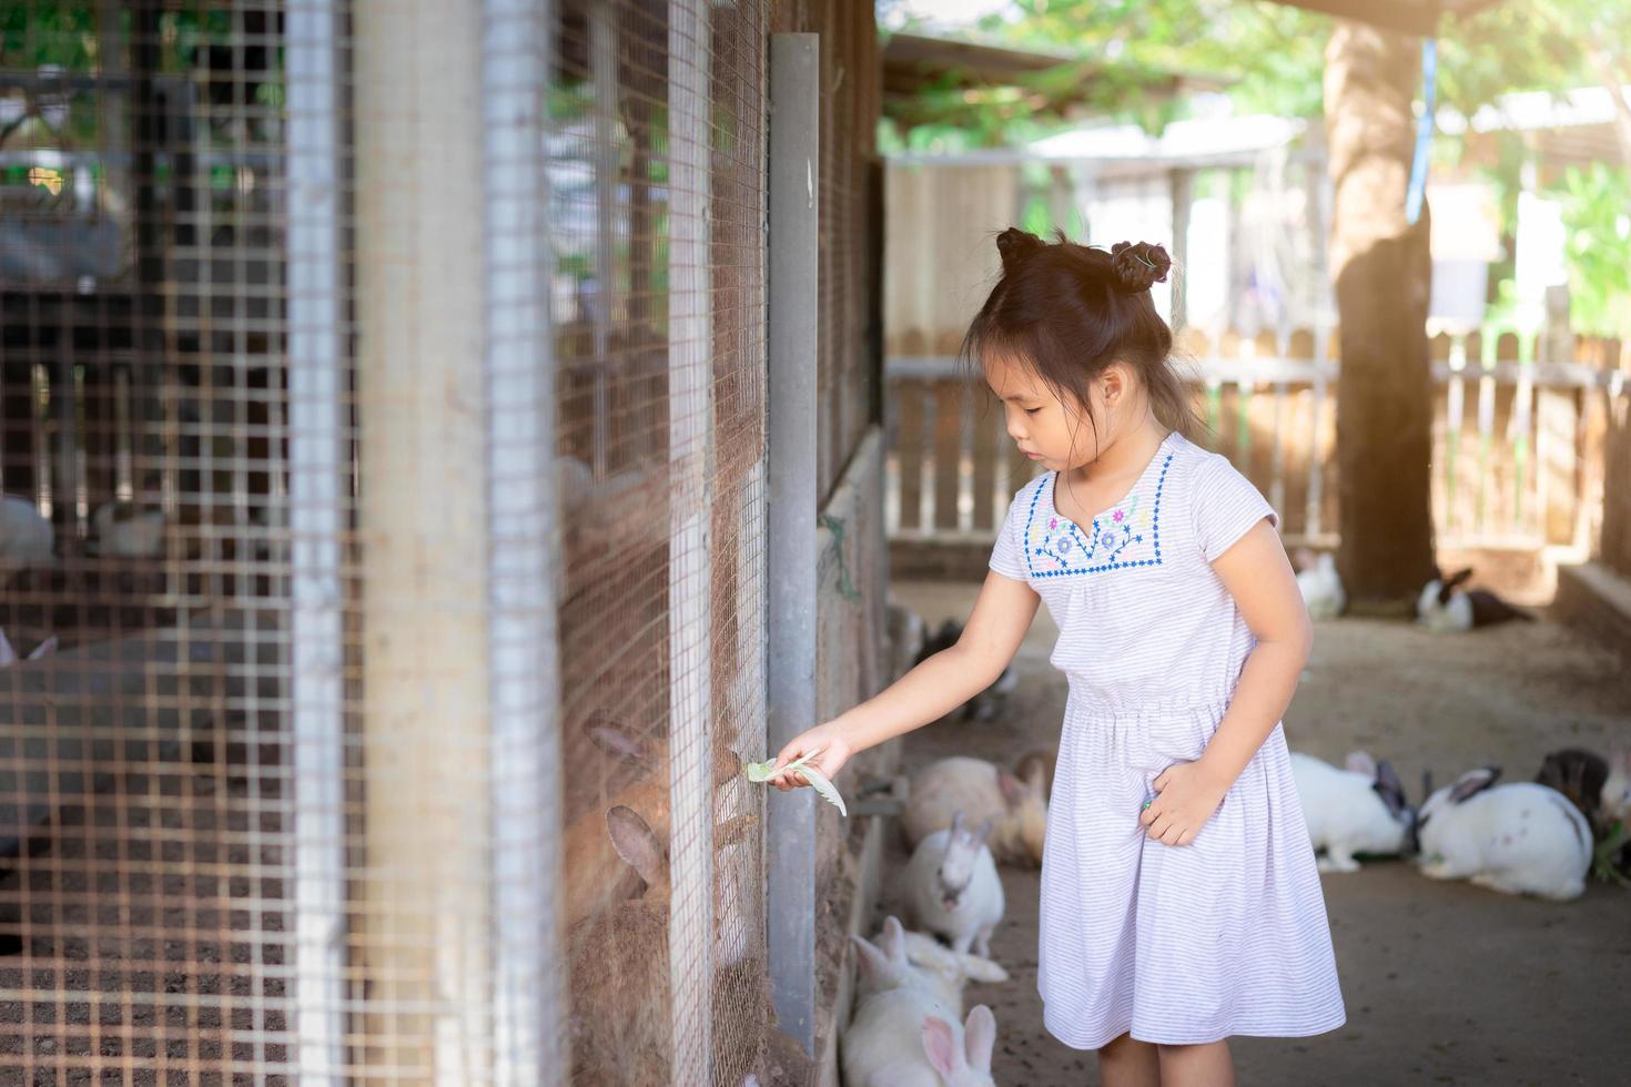
<path id="1" fill-rule="evenodd" d="M 1044 469 L 1019 487 L 962 639 L 789 742 L 848 758 L 988 686 L 1039 601 L 1070 680 L 1042 851 L 1044 1023 L 1106 1087 L 1233 1084 L 1230 1035 L 1344 1022 L 1280 714 L 1313 636 L 1275 526 L 1194 445 L 1150 284 L 1160 246 L 997 238 L 964 357 Z M 771 779 L 788 790 L 798 771 Z"/>

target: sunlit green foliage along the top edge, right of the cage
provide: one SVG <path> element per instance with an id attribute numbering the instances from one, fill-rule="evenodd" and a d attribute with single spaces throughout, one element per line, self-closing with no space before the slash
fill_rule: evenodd
<path id="1" fill-rule="evenodd" d="M 1023 88 L 1045 98 L 1057 83 L 1088 81 L 1081 112 L 1160 130 L 1182 111 L 1168 93 L 1171 75 L 1225 86 L 1241 112 L 1316 117 L 1321 111 L 1333 26 L 1324 15 L 1266 0 L 1014 0 L 1013 13 L 982 20 L 980 39 L 1076 57 L 1080 65 L 1062 65 Z M 1631 81 L 1628 3 L 1501 3 L 1445 18 L 1440 28 L 1439 103 L 1461 112 L 1510 91 L 1593 86 L 1605 73 Z M 1062 124 L 1034 114 L 1026 95 L 944 88 L 925 99 L 941 116 L 926 137 L 935 150 L 1018 143 Z M 917 147 L 912 135 L 891 140 Z"/>

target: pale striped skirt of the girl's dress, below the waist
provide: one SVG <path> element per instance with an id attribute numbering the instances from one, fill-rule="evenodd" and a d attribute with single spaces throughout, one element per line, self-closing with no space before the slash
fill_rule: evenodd
<path id="1" fill-rule="evenodd" d="M 1205 750 L 1227 701 L 1072 693 L 1042 852 L 1037 991 L 1078 1050 L 1130 1032 L 1192 1045 L 1344 1022 L 1331 932 L 1280 724 L 1187 846 L 1148 838 L 1153 781 Z"/>

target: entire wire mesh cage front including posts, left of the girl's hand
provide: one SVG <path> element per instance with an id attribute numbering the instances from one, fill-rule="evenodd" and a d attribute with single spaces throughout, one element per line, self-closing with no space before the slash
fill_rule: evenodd
<path id="1" fill-rule="evenodd" d="M 13 0 L 0 29 L 0 1067 L 514 1080 L 548 1007 L 509 955 L 558 931 L 576 1082 L 742 1082 L 768 7 Z M 533 530 L 558 671 L 517 640 Z M 545 696 L 538 795 L 556 733 L 506 722 Z"/>

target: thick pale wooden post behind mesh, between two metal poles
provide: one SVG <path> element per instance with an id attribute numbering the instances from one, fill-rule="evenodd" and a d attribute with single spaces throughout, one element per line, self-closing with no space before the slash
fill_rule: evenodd
<path id="1" fill-rule="evenodd" d="M 470 1082 L 493 958 L 481 3 L 357 0 L 352 18 L 359 1056 L 393 1082 Z"/>

